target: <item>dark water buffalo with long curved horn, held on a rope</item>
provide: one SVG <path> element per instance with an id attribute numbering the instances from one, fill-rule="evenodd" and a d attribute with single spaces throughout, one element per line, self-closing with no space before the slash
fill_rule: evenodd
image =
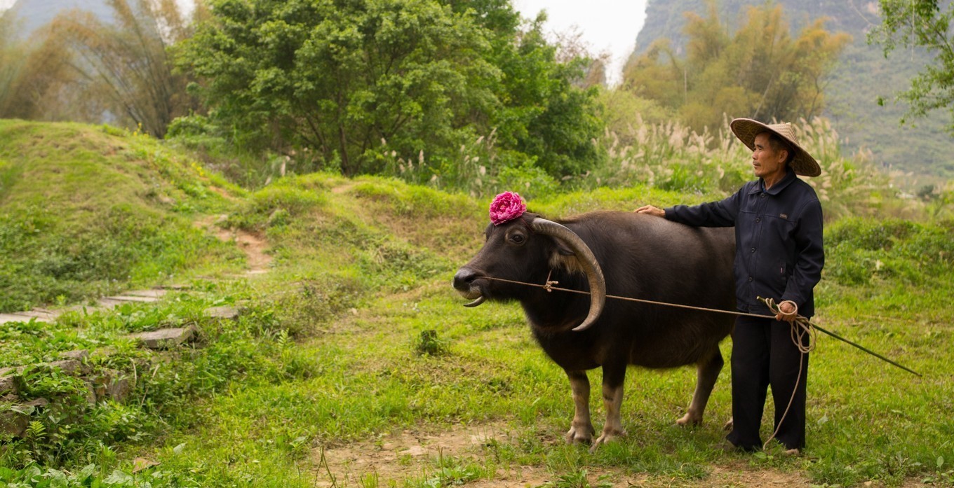
<path id="1" fill-rule="evenodd" d="M 693 399 L 676 423 L 698 424 L 722 369 L 718 343 L 733 315 L 698 312 L 606 295 L 735 310 L 730 228 L 692 228 L 644 214 L 595 212 L 553 222 L 525 213 L 488 225 L 484 247 L 454 275 L 470 306 L 485 299 L 519 301 L 530 329 L 570 377 L 575 414 L 567 442 L 592 442 L 586 371 L 603 368 L 607 419 L 599 444 L 625 435 L 620 422 L 628 364 L 674 368 L 695 364 Z M 592 291 L 572 294 L 500 281 Z"/>

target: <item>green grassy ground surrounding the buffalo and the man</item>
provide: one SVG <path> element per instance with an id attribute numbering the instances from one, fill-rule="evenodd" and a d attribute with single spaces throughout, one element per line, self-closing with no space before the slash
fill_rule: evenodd
<path id="1" fill-rule="evenodd" d="M 61 478 L 61 486 L 494 486 L 522 479 L 551 486 L 704 486 L 726 479 L 727 472 L 829 485 L 923 478 L 954 483 L 954 421 L 945 415 L 954 397 L 954 312 L 946 306 L 954 286 L 949 221 L 842 218 L 829 224 L 819 325 L 924 377 L 820 337 L 805 457 L 714 449 L 730 412 L 728 368 L 708 421 L 692 429 L 674 427 L 674 419 L 688 403 L 693 371 L 631 370 L 623 407 L 629 437 L 589 454 L 562 443 L 572 415 L 569 385 L 533 344 L 519 307 L 465 309 L 449 287 L 456 267 L 480 246 L 486 201 L 383 178 L 323 174 L 285 178 L 246 194 L 139 136 L 3 124 L 3 269 L 14 263 L 32 273 L 24 278 L 28 283 L 49 280 L 41 290 L 75 291 L 17 303 L 57 296 L 63 304 L 82 302 L 92 296 L 82 291 L 86 281 L 93 283 L 90 294 L 170 282 L 191 289 L 157 305 L 73 313 L 51 325 L 0 326 L 0 367 L 109 346 L 109 355 L 93 354 L 93 368 L 138 372 L 129 400 L 94 406 L 67 401 L 82 390 L 69 376 L 34 375 L 26 395 L 59 396 L 73 407 L 35 409 L 27 437 L 3 439 L 0 483 L 31 486 Z M 64 148 L 93 149 L 31 149 L 52 139 Z M 37 153 L 21 156 L 31 151 Z M 45 169 L 61 152 L 72 155 L 59 169 Z M 84 160 L 87 165 L 79 164 Z M 110 176 L 115 168 L 121 171 Z M 128 191 L 119 190 L 127 188 L 123 176 L 129 177 Z M 31 185 L 9 183 L 23 181 Z M 219 197 L 213 186 L 232 197 Z M 48 203 L 30 197 L 44 188 Z M 111 196 L 107 189 L 116 190 Z M 540 197 L 530 207 L 560 216 L 711 197 L 635 187 Z M 46 218 L 31 220 L 34 212 Z M 83 217 L 87 213 L 94 217 Z M 239 268 L 238 253 L 192 226 L 207 214 L 229 214 L 227 223 L 264 234 L 275 258 L 271 273 L 228 277 Z M 114 224 L 81 226 L 82 218 Z M 30 221 L 46 227 L 27 232 L 24 222 Z M 136 234 L 142 229 L 151 230 L 150 238 Z M 84 273 L 96 262 L 83 251 L 96 246 L 47 243 L 89 239 L 104 249 L 136 251 L 126 258 L 125 275 L 100 269 L 61 278 L 40 273 L 49 267 L 29 266 L 46 254 L 13 253 L 7 235 L 83 255 L 76 262 L 85 264 L 75 269 Z M 69 286 L 56 284 L 61 281 Z M 201 316 L 205 307 L 222 303 L 240 304 L 245 313 L 235 322 Z M 197 325 L 200 341 L 161 359 L 122 338 L 181 324 Z M 723 353 L 730 349 L 726 341 Z M 598 382 L 599 374 L 591 378 Z M 597 428 L 600 403 L 598 395 L 592 398 Z M 766 414 L 771 418 L 771 405 Z M 373 468 L 359 462 L 387 452 L 402 433 L 469 436 L 465 431 L 474 430 L 495 435 L 428 456 L 397 453 L 393 462 Z M 342 451 L 355 445 L 357 460 L 342 461 Z M 158 464 L 137 471 L 137 457 Z"/>

